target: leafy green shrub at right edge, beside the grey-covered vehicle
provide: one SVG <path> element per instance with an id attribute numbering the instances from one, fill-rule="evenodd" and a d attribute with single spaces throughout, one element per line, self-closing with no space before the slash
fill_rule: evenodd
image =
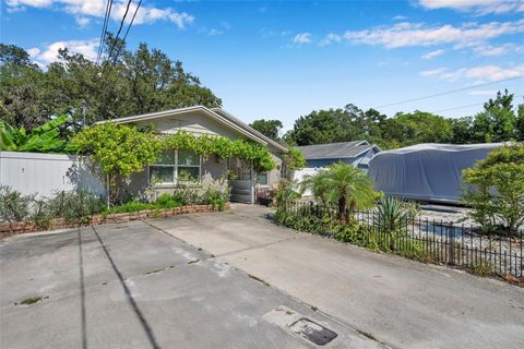
<path id="1" fill-rule="evenodd" d="M 524 144 L 492 151 L 484 160 L 463 171 L 463 200 L 472 206 L 472 218 L 485 231 L 502 225 L 508 234 L 524 224 Z"/>

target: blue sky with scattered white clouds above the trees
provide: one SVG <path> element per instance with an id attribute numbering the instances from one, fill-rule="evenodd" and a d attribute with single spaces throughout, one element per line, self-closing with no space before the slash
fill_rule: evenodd
<path id="1" fill-rule="evenodd" d="M 106 1 L 2 0 L 0 40 L 41 67 L 61 47 L 95 60 Z M 114 1 L 109 31 L 127 3 Z M 460 117 L 498 89 L 524 95 L 524 0 L 143 0 L 128 47 L 140 43 L 181 60 L 241 120 L 279 119 L 285 130 L 350 103 Z"/>

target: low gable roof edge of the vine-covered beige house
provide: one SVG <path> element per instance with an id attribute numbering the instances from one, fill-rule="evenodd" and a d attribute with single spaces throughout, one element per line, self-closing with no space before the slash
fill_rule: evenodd
<path id="1" fill-rule="evenodd" d="M 105 122 L 115 122 L 115 123 L 131 123 L 131 122 L 139 122 L 139 121 L 147 121 L 147 120 L 155 120 L 164 117 L 171 117 L 171 116 L 177 116 L 181 113 L 190 113 L 194 111 L 201 111 L 207 117 L 214 119 L 215 121 L 222 123 L 223 125 L 233 129 L 237 131 L 238 133 L 245 135 L 246 137 L 255 141 L 258 143 L 261 143 L 265 146 L 271 145 L 275 148 L 277 148 L 281 152 L 287 152 L 287 148 L 283 146 L 282 144 L 266 137 L 262 133 L 258 132 L 253 128 L 249 127 L 248 124 L 243 123 L 242 121 L 238 120 L 237 118 L 233 117 L 230 113 L 227 111 L 221 109 L 221 108 L 213 108 L 209 109 L 204 106 L 192 106 L 192 107 L 186 107 L 186 108 L 178 108 L 178 109 L 170 109 L 170 110 L 164 110 L 164 111 L 157 111 L 157 112 L 150 112 L 150 113 L 143 113 L 139 116 L 131 116 L 131 117 L 124 117 L 124 118 L 118 118 L 118 119 L 112 119 L 112 120 L 104 120 L 104 121 L 98 121 L 95 124 L 100 124 Z"/>

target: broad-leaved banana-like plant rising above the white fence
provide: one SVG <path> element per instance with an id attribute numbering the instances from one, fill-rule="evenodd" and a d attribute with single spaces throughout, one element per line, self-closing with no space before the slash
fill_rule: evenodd
<path id="1" fill-rule="evenodd" d="M 27 134 L 24 128 L 15 129 L 0 120 L 0 151 L 62 153 L 74 151 L 70 144 L 60 139 L 59 127 L 69 120 L 61 116 L 50 120 Z"/>

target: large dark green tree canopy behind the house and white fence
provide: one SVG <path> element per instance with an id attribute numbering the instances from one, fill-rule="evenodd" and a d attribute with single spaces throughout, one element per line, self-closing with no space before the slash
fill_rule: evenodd
<path id="1" fill-rule="evenodd" d="M 135 51 L 108 35 L 111 56 L 102 64 L 67 49 L 40 69 L 28 53 L 0 44 L 0 117 L 32 130 L 52 116 L 70 115 L 74 125 L 193 105 L 219 107 L 222 100 L 158 49 Z"/>

